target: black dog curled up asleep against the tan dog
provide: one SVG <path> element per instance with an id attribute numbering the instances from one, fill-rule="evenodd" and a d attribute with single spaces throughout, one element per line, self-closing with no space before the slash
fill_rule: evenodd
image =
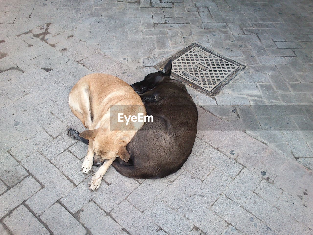
<path id="1" fill-rule="evenodd" d="M 162 178 L 179 170 L 191 154 L 198 112 L 185 86 L 170 78 L 171 71 L 170 60 L 162 72 L 151 73 L 131 85 L 140 94 L 153 122 L 146 122 L 127 145 L 129 161 L 117 158 L 112 163 L 124 176 Z M 73 129 L 69 129 L 68 135 L 88 144 Z M 94 159 L 94 165 L 102 163 L 102 159 Z"/>

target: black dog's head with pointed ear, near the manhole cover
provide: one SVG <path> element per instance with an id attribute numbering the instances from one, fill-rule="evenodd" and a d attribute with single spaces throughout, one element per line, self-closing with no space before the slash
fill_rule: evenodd
<path id="1" fill-rule="evenodd" d="M 145 93 L 146 91 L 152 90 L 162 81 L 170 79 L 171 72 L 172 60 L 169 60 L 162 71 L 148 74 L 145 76 L 144 80 L 132 84 L 131 87 L 137 92 L 137 94 Z"/>

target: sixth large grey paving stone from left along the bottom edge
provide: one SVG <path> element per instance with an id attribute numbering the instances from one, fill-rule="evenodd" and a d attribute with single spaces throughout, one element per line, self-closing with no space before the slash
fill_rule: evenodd
<path id="1" fill-rule="evenodd" d="M 220 234 L 227 226 L 227 222 L 191 198 L 185 201 L 177 212 L 192 221 L 206 234 Z"/>

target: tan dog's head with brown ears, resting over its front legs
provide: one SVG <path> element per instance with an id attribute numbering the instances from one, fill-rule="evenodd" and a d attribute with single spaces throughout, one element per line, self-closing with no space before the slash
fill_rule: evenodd
<path id="1" fill-rule="evenodd" d="M 93 148 L 96 155 L 103 159 L 111 159 L 119 156 L 122 160 L 129 160 L 129 153 L 126 150 L 126 145 L 129 141 L 127 137 L 122 136 L 116 131 L 98 128 L 95 130 L 87 130 L 80 133 L 80 137 L 93 140 Z"/>

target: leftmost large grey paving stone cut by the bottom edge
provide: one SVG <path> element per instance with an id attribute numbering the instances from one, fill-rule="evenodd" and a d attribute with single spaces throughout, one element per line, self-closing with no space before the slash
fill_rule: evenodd
<path id="1" fill-rule="evenodd" d="M 14 234 L 50 234 L 24 205 L 16 208 L 3 222 Z"/>

